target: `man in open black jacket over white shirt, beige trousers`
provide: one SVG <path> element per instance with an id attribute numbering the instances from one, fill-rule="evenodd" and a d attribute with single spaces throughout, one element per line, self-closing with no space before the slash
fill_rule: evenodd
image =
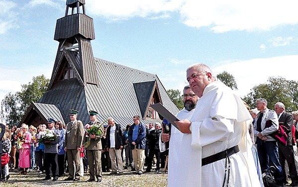
<path id="1" fill-rule="evenodd" d="M 120 125 L 116 124 L 113 118 L 108 118 L 109 127 L 107 128 L 107 150 L 109 151 L 112 172 L 109 175 L 117 174 L 116 159 L 119 175 L 123 175 L 123 162 L 121 158 L 121 149 L 123 149 L 122 130 Z"/>

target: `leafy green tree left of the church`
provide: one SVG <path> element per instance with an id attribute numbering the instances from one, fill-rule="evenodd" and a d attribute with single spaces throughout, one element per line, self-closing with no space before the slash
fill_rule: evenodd
<path id="1" fill-rule="evenodd" d="M 1 117 L 10 125 L 16 125 L 32 102 L 38 102 L 47 91 L 50 79 L 44 75 L 32 78 L 15 94 L 8 93 L 1 102 Z"/>

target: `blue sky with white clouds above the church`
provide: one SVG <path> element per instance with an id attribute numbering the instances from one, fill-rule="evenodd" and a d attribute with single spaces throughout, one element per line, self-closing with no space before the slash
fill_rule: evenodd
<path id="1" fill-rule="evenodd" d="M 270 76 L 298 81 L 298 1 L 85 0 L 93 55 L 156 74 L 166 90 L 186 69 L 226 71 L 240 97 Z M 0 101 L 34 76 L 51 78 L 66 0 L 0 0 Z M 121 75 L 115 75 L 121 78 Z"/>

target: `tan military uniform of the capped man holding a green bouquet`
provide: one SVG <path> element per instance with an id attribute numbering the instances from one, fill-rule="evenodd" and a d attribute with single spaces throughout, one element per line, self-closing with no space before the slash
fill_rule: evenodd
<path id="1" fill-rule="evenodd" d="M 100 125 L 98 120 L 96 120 L 94 125 Z M 93 125 L 92 122 L 89 122 L 88 125 Z M 103 125 L 100 126 L 101 131 L 103 132 Z M 95 136 L 95 138 L 90 138 L 90 144 L 85 148 L 87 150 L 87 160 L 90 171 L 90 179 L 88 182 L 95 181 L 95 177 L 98 182 L 101 181 L 102 178 L 102 168 L 101 168 L 101 138 L 103 134 Z M 84 136 L 84 142 L 87 142 L 89 139 L 88 135 Z"/>

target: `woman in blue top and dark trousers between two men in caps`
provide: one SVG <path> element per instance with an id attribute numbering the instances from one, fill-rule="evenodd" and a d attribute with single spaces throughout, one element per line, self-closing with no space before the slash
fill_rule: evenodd
<path id="1" fill-rule="evenodd" d="M 65 150 L 64 150 L 64 141 L 65 141 L 65 125 L 58 121 L 55 125 L 55 128 L 60 130 L 60 141 L 57 144 L 58 146 L 58 169 L 59 169 L 59 177 L 62 177 L 65 173 Z"/>

